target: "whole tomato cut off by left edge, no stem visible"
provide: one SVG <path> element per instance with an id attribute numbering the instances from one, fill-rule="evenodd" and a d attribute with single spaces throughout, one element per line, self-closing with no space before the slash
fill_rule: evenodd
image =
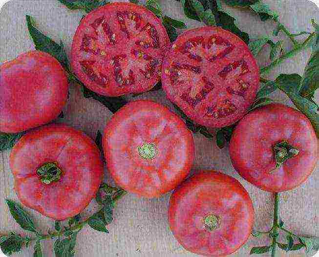
<path id="1" fill-rule="evenodd" d="M 0 67 L 0 130 L 15 133 L 49 123 L 67 100 L 68 82 L 51 55 L 30 51 Z"/>

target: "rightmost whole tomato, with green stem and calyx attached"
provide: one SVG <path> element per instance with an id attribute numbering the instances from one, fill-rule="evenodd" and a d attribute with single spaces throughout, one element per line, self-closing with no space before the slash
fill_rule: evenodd
<path id="1" fill-rule="evenodd" d="M 314 170 L 318 141 L 310 121 L 281 104 L 260 107 L 236 126 L 230 142 L 233 166 L 269 192 L 294 189 Z"/>

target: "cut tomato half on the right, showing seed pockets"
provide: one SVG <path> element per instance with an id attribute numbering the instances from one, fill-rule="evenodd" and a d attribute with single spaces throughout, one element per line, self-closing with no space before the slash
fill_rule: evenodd
<path id="1" fill-rule="evenodd" d="M 163 61 L 167 97 L 196 123 L 220 128 L 238 121 L 253 103 L 259 70 L 248 46 L 220 27 L 180 35 Z"/>

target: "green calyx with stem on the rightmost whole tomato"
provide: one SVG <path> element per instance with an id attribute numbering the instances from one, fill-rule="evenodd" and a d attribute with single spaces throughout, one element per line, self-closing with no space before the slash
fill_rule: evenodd
<path id="1" fill-rule="evenodd" d="M 280 168 L 285 161 L 295 157 L 300 152 L 298 148 L 289 145 L 285 140 L 277 143 L 273 150 L 276 159 L 276 169 Z"/>

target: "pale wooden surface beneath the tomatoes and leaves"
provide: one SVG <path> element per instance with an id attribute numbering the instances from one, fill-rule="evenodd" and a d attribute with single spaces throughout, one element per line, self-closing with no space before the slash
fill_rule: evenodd
<path id="1" fill-rule="evenodd" d="M 309 1 L 304 0 L 264 0 L 278 11 L 280 20 L 293 31 L 312 31 L 311 18 L 319 21 L 318 8 Z M 200 26 L 199 22 L 186 20 L 181 9 L 181 4 L 175 0 L 161 1 L 164 13 L 173 18 L 187 21 L 189 27 Z M 258 17 L 247 10 L 227 8 L 230 13 L 238 18 L 240 27 L 254 37 L 272 35 L 275 28 L 273 21 L 262 22 Z M 29 39 L 25 25 L 25 15 L 32 15 L 39 28 L 47 33 L 53 40 L 62 39 L 69 53 L 72 37 L 79 24 L 82 13 L 70 11 L 64 8 L 56 0 L 14 0 L 7 2 L 0 14 L 0 50 L 1 63 L 15 58 L 18 54 L 33 49 L 33 43 Z M 291 44 L 285 36 L 278 38 L 285 39 L 286 46 Z M 276 38 L 276 40 L 278 39 Z M 269 49 L 258 56 L 260 65 L 267 64 Z M 269 78 L 272 79 L 279 72 L 302 73 L 306 61 L 309 58 L 309 51 L 298 54 L 293 59 L 285 61 L 280 67 L 274 69 Z M 274 93 L 272 97 L 280 102 L 291 104 L 281 93 Z M 152 99 L 172 109 L 169 101 L 163 92 L 146 93 L 140 99 Z M 80 88 L 76 85 L 70 86 L 70 98 L 64 108 L 64 122 L 76 129 L 84 130 L 89 136 L 95 138 L 98 129 L 103 130 L 111 113 L 100 103 L 84 99 Z M 271 193 L 263 192 L 248 184 L 234 171 L 228 148 L 219 150 L 213 141 L 201 135 L 194 135 L 196 145 L 196 158 L 194 169 L 216 169 L 237 178 L 250 193 L 255 207 L 255 228 L 266 230 L 271 226 L 273 213 L 273 196 Z M 1 174 L 0 174 L 0 231 L 5 234 L 8 231 L 16 231 L 25 235 L 21 228 L 8 213 L 5 198 L 17 200 L 13 190 L 13 178 L 8 165 L 10 151 L 1 153 Z M 109 180 L 107 171 L 105 179 Z M 314 171 L 309 179 L 298 189 L 282 193 L 280 203 L 280 214 L 285 221 L 287 228 L 292 229 L 298 235 L 319 236 L 319 172 Z M 143 199 L 134 195 L 127 195 L 118 202 L 114 214 L 114 222 L 108 226 L 109 234 L 102 234 L 85 227 L 78 236 L 76 246 L 77 257 L 186 257 L 195 256 L 186 252 L 172 236 L 167 222 L 167 207 L 170 193 L 159 199 Z M 96 209 L 92 202 L 85 210 L 83 216 Z M 36 225 L 46 232 L 48 228 L 54 230 L 54 221 L 46 218 L 30 209 Z M 264 240 L 264 241 L 263 241 Z M 238 250 L 233 256 L 243 257 L 249 255 L 252 246 L 266 245 L 270 239 L 266 236 L 263 239 L 250 238 L 249 241 Z M 52 241 L 43 243 L 44 256 L 53 256 Z M 301 257 L 305 256 L 304 251 L 293 254 L 285 254 L 278 251 L 278 256 Z M 20 254 L 19 257 L 31 257 L 33 249 L 29 248 Z M 265 255 L 268 256 L 268 255 Z"/>

